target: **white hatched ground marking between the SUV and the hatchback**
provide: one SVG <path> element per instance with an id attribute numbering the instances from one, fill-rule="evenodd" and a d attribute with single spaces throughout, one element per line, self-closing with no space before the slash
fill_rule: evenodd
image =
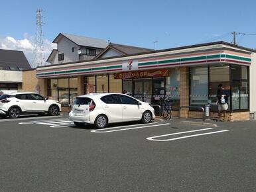
<path id="1" fill-rule="evenodd" d="M 34 120 L 29 122 L 19 122 L 19 124 L 44 124 L 49 125 L 50 127 L 66 127 L 74 125 L 74 122 L 68 119 L 50 119 L 50 120 Z"/>

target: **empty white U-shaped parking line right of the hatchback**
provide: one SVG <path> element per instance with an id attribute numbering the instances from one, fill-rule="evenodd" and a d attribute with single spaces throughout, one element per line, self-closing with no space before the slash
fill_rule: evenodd
<path id="1" fill-rule="evenodd" d="M 190 138 L 190 137 L 195 137 L 195 136 L 203 136 L 203 135 L 207 135 L 207 134 L 216 134 L 216 133 L 220 133 L 220 132 L 227 132 L 229 131 L 228 129 L 225 130 L 218 130 L 218 131 L 214 131 L 214 132 L 205 132 L 205 133 L 201 133 L 201 134 L 192 134 L 192 135 L 188 135 L 188 136 L 180 136 L 180 137 L 176 137 L 176 138 L 169 138 L 169 139 L 155 139 L 155 138 L 160 138 L 160 137 L 164 137 L 164 136 L 172 136 L 172 135 L 176 135 L 176 134 L 185 134 L 188 132 L 199 132 L 199 131 L 204 131 L 204 130 L 212 130 L 213 128 L 202 128 L 202 129 L 197 129 L 197 130 L 188 130 L 188 131 L 184 131 L 184 132 L 174 132 L 174 133 L 170 133 L 170 134 L 162 134 L 159 136 L 151 136 L 148 137 L 147 140 L 152 140 L 152 141 L 172 141 L 172 140 L 179 140 L 182 138 Z"/>

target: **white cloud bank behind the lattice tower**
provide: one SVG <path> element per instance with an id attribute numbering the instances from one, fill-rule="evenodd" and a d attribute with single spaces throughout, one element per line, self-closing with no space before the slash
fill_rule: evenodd
<path id="1" fill-rule="evenodd" d="M 27 60 L 29 60 L 29 64 L 34 66 L 33 64 L 33 50 L 35 46 L 35 38 L 34 36 L 30 36 L 29 34 L 23 34 L 23 39 L 15 39 L 12 36 L 6 36 L 5 38 L 0 38 L 0 48 L 8 49 L 8 50 L 21 50 L 24 52 Z M 42 62 L 45 63 L 46 59 L 52 52 L 52 49 L 56 48 L 56 44 L 53 44 L 48 39 L 43 40 L 42 46 Z M 40 59 L 36 60 L 36 62 L 40 63 Z"/>

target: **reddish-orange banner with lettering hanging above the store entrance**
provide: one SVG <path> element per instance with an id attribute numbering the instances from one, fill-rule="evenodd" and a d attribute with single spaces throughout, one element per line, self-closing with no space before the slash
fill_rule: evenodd
<path id="1" fill-rule="evenodd" d="M 114 78 L 115 79 L 137 79 L 137 78 L 150 78 L 150 77 L 164 77 L 167 75 L 168 75 L 168 69 L 160 69 L 160 70 L 115 73 Z"/>

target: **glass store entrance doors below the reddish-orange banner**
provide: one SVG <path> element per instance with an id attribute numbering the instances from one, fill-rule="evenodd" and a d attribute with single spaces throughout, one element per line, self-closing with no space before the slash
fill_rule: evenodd
<path id="1" fill-rule="evenodd" d="M 136 99 L 151 103 L 152 100 L 152 79 L 135 79 L 134 83 L 134 95 Z"/>

